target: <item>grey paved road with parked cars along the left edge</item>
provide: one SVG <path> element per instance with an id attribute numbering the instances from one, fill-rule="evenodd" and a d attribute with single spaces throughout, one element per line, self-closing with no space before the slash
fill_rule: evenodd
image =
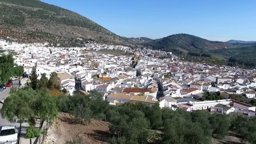
<path id="1" fill-rule="evenodd" d="M 13 87 L 19 87 L 19 80 L 14 80 L 13 81 Z M 6 87 L 6 89 L 2 92 L 0 92 L 0 99 L 4 99 L 9 95 L 9 92 L 11 90 L 11 87 Z M 2 109 L 2 104 L 0 104 L 0 109 Z M 2 116 L 0 116 L 0 127 L 2 125 L 16 125 L 16 127 L 19 130 L 19 123 L 10 123 L 6 119 L 3 119 Z"/>

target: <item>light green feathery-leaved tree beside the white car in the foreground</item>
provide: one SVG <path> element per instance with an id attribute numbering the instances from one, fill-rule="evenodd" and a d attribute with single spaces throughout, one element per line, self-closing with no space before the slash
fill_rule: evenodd
<path id="1" fill-rule="evenodd" d="M 57 105 L 55 98 L 48 93 L 38 93 L 32 88 L 18 89 L 12 91 L 5 99 L 0 113 L 2 118 L 12 123 L 16 122 L 16 119 L 19 119 L 20 123 L 28 119 L 31 126 L 28 132 L 38 132 L 34 131 L 35 117 L 40 116 L 41 120 L 51 122 L 57 117 Z M 30 133 L 29 138 L 33 138 L 32 136 Z"/>

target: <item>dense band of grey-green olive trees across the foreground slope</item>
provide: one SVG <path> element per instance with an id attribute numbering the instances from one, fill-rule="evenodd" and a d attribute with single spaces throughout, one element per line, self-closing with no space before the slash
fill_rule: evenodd
<path id="1" fill-rule="evenodd" d="M 71 113 L 73 123 L 88 125 L 92 119 L 109 122 L 110 144 L 211 144 L 237 132 L 243 142 L 255 144 L 256 118 L 228 116 L 204 111 L 160 109 L 156 104 L 109 105 L 102 95 L 57 97 L 59 111 Z M 242 123 L 242 124 L 240 124 Z"/>

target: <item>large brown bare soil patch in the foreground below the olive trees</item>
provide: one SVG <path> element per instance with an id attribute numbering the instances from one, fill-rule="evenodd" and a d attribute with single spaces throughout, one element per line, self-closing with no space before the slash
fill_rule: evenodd
<path id="1" fill-rule="evenodd" d="M 109 123 L 92 120 L 89 125 L 74 124 L 68 113 L 59 113 L 48 130 L 46 144 L 65 144 L 72 139 L 81 139 L 82 144 L 108 144 Z"/>

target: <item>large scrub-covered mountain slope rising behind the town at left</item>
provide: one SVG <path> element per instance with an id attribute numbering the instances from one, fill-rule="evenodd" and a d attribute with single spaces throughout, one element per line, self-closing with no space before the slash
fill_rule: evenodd
<path id="1" fill-rule="evenodd" d="M 132 44 L 80 14 L 39 0 L 0 0 L 0 9 L 2 38 L 25 43 L 79 44 L 76 39 L 82 38 L 105 44 Z"/>

